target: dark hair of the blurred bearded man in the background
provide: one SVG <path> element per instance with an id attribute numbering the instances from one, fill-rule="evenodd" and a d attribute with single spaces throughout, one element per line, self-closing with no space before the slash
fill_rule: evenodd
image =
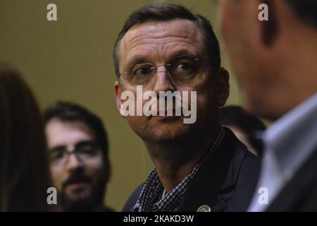
<path id="1" fill-rule="evenodd" d="M 65 122 L 81 122 L 88 126 L 94 134 L 97 144 L 101 147 L 104 162 L 108 165 L 108 138 L 104 124 L 96 114 L 73 102 L 58 101 L 44 112 L 45 124 L 49 123 L 51 119 L 59 119 Z"/>

